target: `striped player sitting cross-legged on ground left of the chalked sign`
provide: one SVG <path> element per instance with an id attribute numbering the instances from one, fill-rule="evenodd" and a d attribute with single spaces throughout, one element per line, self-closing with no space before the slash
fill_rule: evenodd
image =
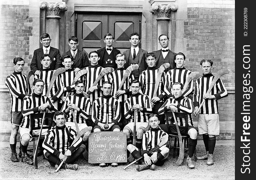
<path id="1" fill-rule="evenodd" d="M 52 167 L 55 169 L 61 164 L 61 168 L 77 170 L 78 165 L 73 164 L 77 158 L 85 151 L 85 145 L 80 137 L 72 146 L 72 141 L 76 138 L 76 131 L 70 126 L 66 126 L 66 114 L 57 111 L 54 114 L 55 127 L 52 127 L 45 135 L 43 143 L 44 155 Z M 64 140 L 64 141 L 63 141 Z M 68 141 L 69 140 L 69 141 Z"/>

